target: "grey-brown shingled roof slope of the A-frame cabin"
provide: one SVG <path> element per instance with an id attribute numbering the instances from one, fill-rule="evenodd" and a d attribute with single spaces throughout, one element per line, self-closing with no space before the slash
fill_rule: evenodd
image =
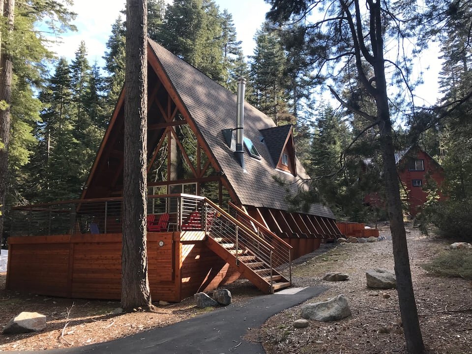
<path id="1" fill-rule="evenodd" d="M 307 188 L 302 182 L 309 176 L 298 161 L 297 177 L 278 171 L 272 165 L 270 153 L 260 138 L 261 131 L 276 127 L 273 120 L 245 102 L 244 136 L 252 141 L 262 159 L 253 158 L 246 151 L 243 171 L 222 134 L 223 129 L 236 127 L 236 95 L 154 41 L 149 40 L 149 45 L 240 202 L 288 210 L 291 206 L 285 200 L 286 188 L 292 194 L 297 188 Z M 274 177 L 284 180 L 287 187 Z M 312 205 L 309 213 L 334 219 L 332 211 L 320 204 Z"/>

